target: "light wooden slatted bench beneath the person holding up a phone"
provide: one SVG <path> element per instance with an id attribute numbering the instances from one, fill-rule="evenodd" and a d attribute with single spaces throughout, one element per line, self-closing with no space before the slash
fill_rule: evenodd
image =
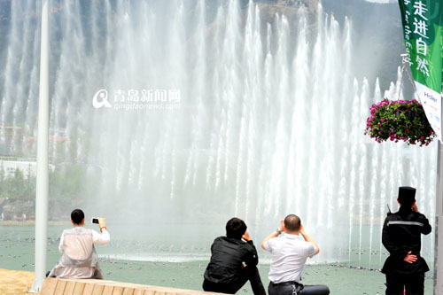
<path id="1" fill-rule="evenodd" d="M 41 295 L 176 295 L 221 294 L 105 280 L 46 278 Z"/>

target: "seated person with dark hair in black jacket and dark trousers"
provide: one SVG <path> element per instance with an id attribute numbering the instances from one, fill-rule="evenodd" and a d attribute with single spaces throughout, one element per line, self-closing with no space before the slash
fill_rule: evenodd
<path id="1" fill-rule="evenodd" d="M 226 223 L 226 237 L 214 240 L 203 290 L 235 294 L 249 280 L 254 294 L 266 295 L 257 269 L 257 249 L 246 229 L 245 222 L 234 217 Z"/>

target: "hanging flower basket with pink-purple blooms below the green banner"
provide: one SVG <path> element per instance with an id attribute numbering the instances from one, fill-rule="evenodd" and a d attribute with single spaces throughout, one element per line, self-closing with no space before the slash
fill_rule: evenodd
<path id="1" fill-rule="evenodd" d="M 391 101 L 387 98 L 371 105 L 370 116 L 366 120 L 365 135 L 377 143 L 388 139 L 398 143 L 431 144 L 435 133 L 431 128 L 423 106 L 414 100 Z"/>

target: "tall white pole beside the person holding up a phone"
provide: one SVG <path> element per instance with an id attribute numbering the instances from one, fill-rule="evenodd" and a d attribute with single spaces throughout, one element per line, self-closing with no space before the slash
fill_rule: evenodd
<path id="1" fill-rule="evenodd" d="M 49 0 L 42 0 L 40 91 L 38 98 L 37 183 L 35 190 L 35 281 L 31 292 L 42 289 L 46 275 L 49 189 Z"/>

